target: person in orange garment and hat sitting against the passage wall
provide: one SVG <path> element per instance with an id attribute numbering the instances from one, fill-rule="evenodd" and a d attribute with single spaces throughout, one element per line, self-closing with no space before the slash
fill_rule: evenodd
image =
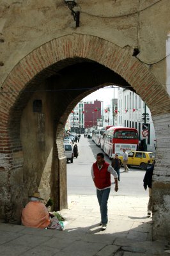
<path id="1" fill-rule="evenodd" d="M 50 224 L 50 216 L 47 208 L 40 200 L 39 192 L 30 196 L 30 202 L 22 210 L 22 225 L 33 228 L 46 228 Z"/>

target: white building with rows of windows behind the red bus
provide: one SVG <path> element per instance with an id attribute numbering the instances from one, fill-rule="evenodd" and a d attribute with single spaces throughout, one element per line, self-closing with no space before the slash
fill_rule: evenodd
<path id="1" fill-rule="evenodd" d="M 144 137 L 146 134 L 143 136 L 145 114 L 146 124 L 149 125 L 148 137 Z M 143 146 L 145 141 L 147 151 L 155 152 L 155 129 L 151 119 L 150 109 L 136 93 L 123 88 L 118 88 L 118 125 L 137 129 L 141 145 Z"/>

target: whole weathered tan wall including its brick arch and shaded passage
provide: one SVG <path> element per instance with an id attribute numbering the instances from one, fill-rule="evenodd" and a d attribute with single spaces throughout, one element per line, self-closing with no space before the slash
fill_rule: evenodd
<path id="1" fill-rule="evenodd" d="M 54 208 L 66 207 L 62 145 L 66 118 L 83 97 L 115 83 L 129 86 L 151 110 L 158 136 L 153 237 L 170 236 L 164 221 L 170 218 L 170 104 L 162 60 L 169 4 L 168 0 L 79 1 L 81 25 L 75 28 L 64 1 L 1 1 L 0 218 L 19 220 L 34 189 L 45 200 L 52 196 Z M 141 61 L 132 56 L 134 47 L 141 51 L 137 55 Z M 89 90 L 79 90 L 87 85 Z M 42 113 L 33 113 L 33 99 L 45 103 Z"/>

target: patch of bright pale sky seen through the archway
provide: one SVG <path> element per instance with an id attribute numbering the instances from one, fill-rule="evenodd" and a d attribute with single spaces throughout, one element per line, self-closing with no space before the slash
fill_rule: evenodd
<path id="1" fill-rule="evenodd" d="M 102 88 L 86 96 L 83 100 L 102 100 L 104 108 L 111 104 L 111 99 L 118 98 L 118 88 Z"/>

